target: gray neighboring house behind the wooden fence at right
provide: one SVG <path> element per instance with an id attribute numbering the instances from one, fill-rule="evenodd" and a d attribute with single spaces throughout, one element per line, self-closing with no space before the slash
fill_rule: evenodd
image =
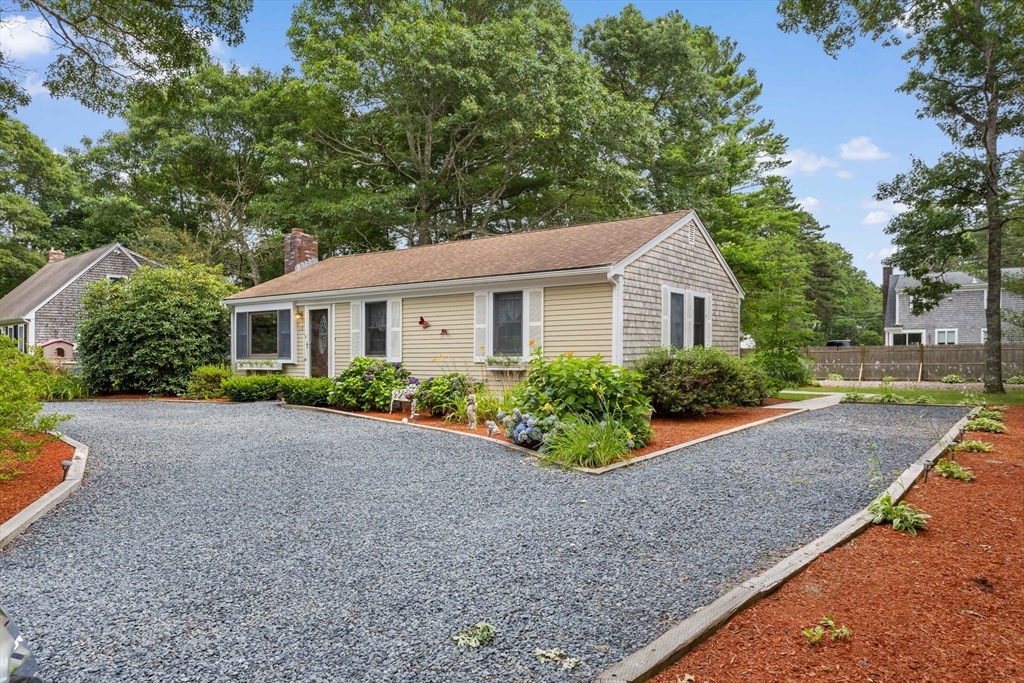
<path id="1" fill-rule="evenodd" d="M 1022 268 L 1004 268 L 1002 276 L 1017 276 Z M 988 283 L 966 272 L 953 271 L 943 280 L 958 289 L 953 290 L 932 310 L 921 315 L 910 312 L 910 296 L 905 290 L 920 283 L 907 275 L 893 273 L 890 266 L 882 270 L 882 309 L 885 315 L 886 346 L 907 344 L 947 345 L 982 344 L 987 336 L 985 324 L 985 297 Z M 1001 308 L 1024 311 L 1024 298 L 1008 292 L 1001 293 Z M 1012 331 L 1004 324 L 1002 337 L 1011 339 Z"/>

